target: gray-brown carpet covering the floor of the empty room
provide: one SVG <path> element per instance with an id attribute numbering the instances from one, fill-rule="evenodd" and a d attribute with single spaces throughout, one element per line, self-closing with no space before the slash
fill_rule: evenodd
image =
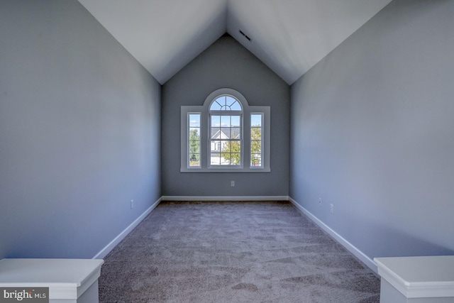
<path id="1" fill-rule="evenodd" d="M 99 302 L 380 302 L 380 278 L 289 202 L 162 202 L 106 256 Z"/>

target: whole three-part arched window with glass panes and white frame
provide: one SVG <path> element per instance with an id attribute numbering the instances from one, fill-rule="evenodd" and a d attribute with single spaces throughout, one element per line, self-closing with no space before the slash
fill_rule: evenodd
<path id="1" fill-rule="evenodd" d="M 270 106 L 217 89 L 181 119 L 181 172 L 270 172 Z"/>

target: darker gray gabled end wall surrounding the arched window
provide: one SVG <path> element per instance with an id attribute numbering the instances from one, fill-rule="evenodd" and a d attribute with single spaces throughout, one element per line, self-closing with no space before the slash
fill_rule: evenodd
<path id="1" fill-rule="evenodd" d="M 179 172 L 180 106 L 202 105 L 211 92 L 222 87 L 236 89 L 250 106 L 271 106 L 271 172 Z M 236 40 L 229 35 L 216 40 L 162 86 L 162 194 L 287 196 L 289 99 L 289 85 Z"/>

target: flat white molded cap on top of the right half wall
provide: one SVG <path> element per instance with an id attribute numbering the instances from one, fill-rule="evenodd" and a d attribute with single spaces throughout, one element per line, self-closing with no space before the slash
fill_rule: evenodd
<path id="1" fill-rule="evenodd" d="M 374 260 L 382 279 L 407 298 L 454 296 L 454 255 Z"/>

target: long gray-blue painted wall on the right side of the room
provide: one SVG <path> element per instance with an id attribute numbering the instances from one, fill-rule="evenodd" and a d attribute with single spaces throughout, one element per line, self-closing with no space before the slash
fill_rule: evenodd
<path id="1" fill-rule="evenodd" d="M 453 16 L 394 0 L 292 85 L 289 194 L 370 258 L 454 253 Z"/>

